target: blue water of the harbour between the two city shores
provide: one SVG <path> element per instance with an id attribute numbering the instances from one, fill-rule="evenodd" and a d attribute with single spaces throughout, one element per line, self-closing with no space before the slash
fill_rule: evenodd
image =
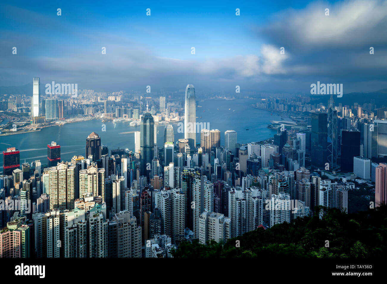
<path id="1" fill-rule="evenodd" d="M 256 101 L 253 99 L 205 100 L 199 103 L 203 107 L 196 107 L 198 117 L 196 122 L 198 125 L 206 123 L 209 129 L 219 129 L 221 133 L 233 129 L 238 133 L 238 143 L 268 139 L 276 133 L 276 130 L 267 128 L 273 116 L 269 111 L 254 109 L 252 104 Z M 106 131 L 102 131 L 103 124 L 106 125 Z M 175 133 L 175 141 L 184 138 L 184 133 L 178 131 L 179 122 L 171 124 Z M 159 147 L 163 145 L 164 128 L 164 124 L 157 126 Z M 56 141 L 62 148 L 61 160 L 66 162 L 70 161 L 74 155 L 85 154 L 85 139 L 92 131 L 98 133 L 103 145 L 108 146 L 109 149 L 120 147 L 134 150 L 134 131 L 140 131 L 140 126 L 131 127 L 127 121 L 101 122 L 99 119 L 94 119 L 63 126 L 50 126 L 36 132 L 0 136 L 0 145 L 4 149 L 11 146 L 19 149 L 22 163 L 24 160 L 27 163 L 41 160 L 41 163 L 45 164 L 47 144 Z M 200 142 L 200 129 L 196 136 L 197 141 Z M 221 135 L 221 143 L 224 143 L 224 135 Z M 0 166 L 2 164 L 3 159 L 1 158 Z"/>

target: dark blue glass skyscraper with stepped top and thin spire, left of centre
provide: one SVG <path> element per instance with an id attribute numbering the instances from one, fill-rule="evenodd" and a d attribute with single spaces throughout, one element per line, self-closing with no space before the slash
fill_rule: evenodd
<path id="1" fill-rule="evenodd" d="M 150 112 L 146 112 L 141 117 L 140 126 L 140 174 L 149 178 L 154 158 L 154 121 Z"/>

